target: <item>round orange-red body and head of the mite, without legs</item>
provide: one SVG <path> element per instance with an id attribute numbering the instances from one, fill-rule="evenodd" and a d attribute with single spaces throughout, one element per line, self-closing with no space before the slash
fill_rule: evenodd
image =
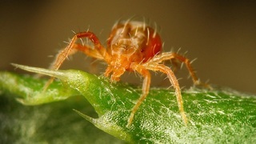
<path id="1" fill-rule="evenodd" d="M 149 26 L 142 22 L 118 23 L 107 40 L 106 51 L 110 60 L 107 62 L 105 75 L 112 72 L 111 80 L 118 81 L 126 70 L 139 69 L 136 67 L 159 54 L 161 50 L 161 38 Z"/>

